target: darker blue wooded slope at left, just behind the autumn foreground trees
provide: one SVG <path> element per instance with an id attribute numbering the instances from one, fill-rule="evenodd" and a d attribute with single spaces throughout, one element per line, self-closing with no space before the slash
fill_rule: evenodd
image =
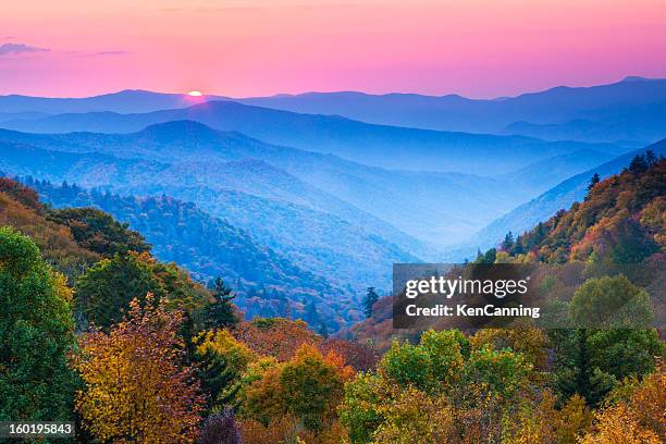
<path id="1" fill-rule="evenodd" d="M 137 198 L 87 192 L 76 185 L 54 186 L 32 178 L 24 182 L 55 208 L 94 207 L 112 214 L 141 233 L 158 259 L 176 262 L 200 282 L 222 278 L 237 293 L 235 301 L 248 318 L 303 317 L 304 301 L 311 300 L 330 320 L 326 323 L 332 331 L 355 320 L 356 303 L 348 289 L 300 269 L 194 203 L 165 196 Z M 65 210 L 57 215 L 63 220 L 76 217 Z"/>

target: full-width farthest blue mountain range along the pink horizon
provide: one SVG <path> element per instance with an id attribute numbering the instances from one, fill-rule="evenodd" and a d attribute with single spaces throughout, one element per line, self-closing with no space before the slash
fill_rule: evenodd
<path id="1" fill-rule="evenodd" d="M 383 125 L 517 134 L 548 140 L 615 141 L 633 148 L 663 138 L 666 121 L 666 79 L 629 76 L 608 85 L 558 86 L 490 100 L 468 99 L 457 95 L 369 95 L 356 91 L 234 99 L 214 95 L 192 97 L 144 90 L 124 90 L 77 99 L 3 96 L 0 97 L 0 122 L 10 121 L 8 127 L 26 130 L 26 121 L 44 118 L 44 113 L 144 113 L 215 100 L 234 100 L 296 113 L 338 115 Z M 12 119 L 12 113 L 23 114 Z M 103 115 L 98 118 L 103 119 Z M 58 120 L 40 123 L 39 131 L 53 131 L 53 126 L 47 130 L 48 122 L 55 125 Z M 99 127 L 89 130 L 101 131 Z"/>

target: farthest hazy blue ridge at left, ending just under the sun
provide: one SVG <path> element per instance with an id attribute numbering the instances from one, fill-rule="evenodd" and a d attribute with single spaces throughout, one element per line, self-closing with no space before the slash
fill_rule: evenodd
<path id="1" fill-rule="evenodd" d="M 119 113 L 150 112 L 192 107 L 208 100 L 226 99 L 222 96 L 188 96 L 140 89 L 82 98 L 55 98 L 32 96 L 0 96 L 0 113 L 49 113 L 113 111 Z M 22 118 L 16 118 L 22 119 Z"/>

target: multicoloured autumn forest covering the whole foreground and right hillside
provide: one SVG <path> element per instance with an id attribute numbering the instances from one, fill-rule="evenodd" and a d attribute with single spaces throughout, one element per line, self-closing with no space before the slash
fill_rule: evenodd
<path id="1" fill-rule="evenodd" d="M 666 160 L 637 156 L 479 252 L 476 263 L 594 269 L 575 288 L 548 281 L 568 329 L 392 340 L 391 298 L 373 288 L 367 320 L 334 336 L 307 314 L 247 317 L 227 276 L 203 285 L 126 223 L 0 178 L 0 420 L 74 421 L 82 443 L 661 443 L 658 331 L 584 319 L 607 297 L 646 294 L 615 264 L 664 269 L 665 181 Z M 663 307 L 646 310 L 658 325 Z"/>

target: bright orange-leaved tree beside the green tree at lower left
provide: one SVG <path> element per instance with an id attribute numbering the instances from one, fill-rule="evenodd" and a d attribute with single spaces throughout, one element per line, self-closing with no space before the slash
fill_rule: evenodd
<path id="1" fill-rule="evenodd" d="M 183 366 L 183 313 L 150 295 L 130 307 L 109 333 L 83 340 L 75 368 L 86 384 L 76 397 L 84 428 L 101 442 L 194 442 L 203 397 Z"/>

